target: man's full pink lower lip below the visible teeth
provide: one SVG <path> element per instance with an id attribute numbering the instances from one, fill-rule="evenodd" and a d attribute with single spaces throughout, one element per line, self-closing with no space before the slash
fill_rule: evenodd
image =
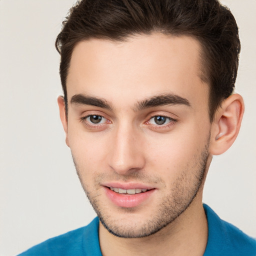
<path id="1" fill-rule="evenodd" d="M 112 190 L 110 190 L 108 187 L 104 187 L 105 193 L 107 197 L 117 206 L 119 207 L 135 207 L 141 203 L 143 203 L 145 200 L 147 200 L 150 195 L 154 192 L 155 189 L 150 189 L 142 193 L 137 194 L 119 194 Z"/>

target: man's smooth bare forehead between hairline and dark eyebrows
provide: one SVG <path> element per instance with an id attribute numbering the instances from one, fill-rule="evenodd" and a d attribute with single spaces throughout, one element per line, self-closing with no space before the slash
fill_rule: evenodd
<path id="1" fill-rule="evenodd" d="M 81 41 L 72 52 L 67 97 L 85 93 L 118 105 L 173 93 L 197 104 L 208 91 L 200 78 L 199 56 L 200 44 L 189 36 L 153 33 L 122 42 Z"/>

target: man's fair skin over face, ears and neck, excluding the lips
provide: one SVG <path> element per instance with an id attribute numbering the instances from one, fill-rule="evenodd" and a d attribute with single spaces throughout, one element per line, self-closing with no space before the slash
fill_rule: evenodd
<path id="1" fill-rule="evenodd" d="M 103 223 L 103 255 L 203 254 L 203 183 L 212 154 L 237 136 L 243 101 L 231 95 L 210 123 L 199 52 L 195 39 L 159 33 L 74 47 L 67 119 L 62 97 L 58 104 L 79 179 Z M 185 101 L 145 104 L 167 94 Z M 91 115 L 103 118 L 93 123 Z M 155 116 L 166 120 L 158 124 Z M 137 182 L 153 193 L 135 207 L 120 207 L 105 193 L 109 182 Z"/>

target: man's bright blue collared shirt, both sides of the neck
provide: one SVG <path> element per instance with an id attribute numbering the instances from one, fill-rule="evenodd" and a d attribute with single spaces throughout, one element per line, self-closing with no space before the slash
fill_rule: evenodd
<path id="1" fill-rule="evenodd" d="M 221 220 L 203 204 L 208 221 L 208 241 L 203 256 L 255 256 L 256 240 Z M 18 256 L 102 256 L 98 241 L 98 218 L 87 226 L 50 238 Z"/>

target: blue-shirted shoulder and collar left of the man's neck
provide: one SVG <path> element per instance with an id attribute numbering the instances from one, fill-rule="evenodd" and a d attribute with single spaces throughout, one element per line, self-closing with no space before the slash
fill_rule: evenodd
<path id="1" fill-rule="evenodd" d="M 98 218 L 94 218 L 87 226 L 47 239 L 18 256 L 89 255 L 89 249 L 92 249 L 95 255 L 100 255 Z"/>

